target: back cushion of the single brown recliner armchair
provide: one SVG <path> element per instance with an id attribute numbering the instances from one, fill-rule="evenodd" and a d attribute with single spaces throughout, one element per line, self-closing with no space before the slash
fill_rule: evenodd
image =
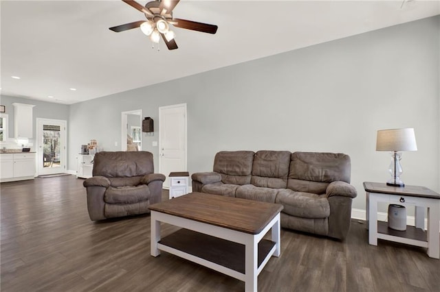
<path id="1" fill-rule="evenodd" d="M 129 178 L 148 173 L 154 173 L 153 154 L 148 151 L 104 151 L 94 157 L 94 176 Z"/>

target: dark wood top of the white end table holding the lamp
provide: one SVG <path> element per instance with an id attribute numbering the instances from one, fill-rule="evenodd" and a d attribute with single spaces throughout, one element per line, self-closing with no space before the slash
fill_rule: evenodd
<path id="1" fill-rule="evenodd" d="M 369 193 L 384 193 L 390 195 L 406 195 L 410 197 L 427 197 L 440 199 L 440 194 L 425 186 L 388 186 L 384 182 L 364 182 L 364 189 Z"/>

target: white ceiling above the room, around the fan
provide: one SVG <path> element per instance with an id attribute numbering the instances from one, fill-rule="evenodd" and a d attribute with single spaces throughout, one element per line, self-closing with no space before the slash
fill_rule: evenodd
<path id="1" fill-rule="evenodd" d="M 74 104 L 440 14 L 402 1 L 181 0 L 175 17 L 217 34 L 174 28 L 179 49 L 157 51 L 140 29 L 108 29 L 144 19 L 119 0 L 1 0 L 1 95 Z"/>

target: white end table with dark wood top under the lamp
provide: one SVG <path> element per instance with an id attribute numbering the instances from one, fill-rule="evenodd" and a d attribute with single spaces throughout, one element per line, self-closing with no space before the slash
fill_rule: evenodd
<path id="1" fill-rule="evenodd" d="M 369 244 L 377 245 L 377 239 L 406 243 L 428 248 L 430 258 L 440 258 L 440 195 L 423 186 L 387 186 L 385 183 L 364 182 L 366 191 L 366 221 L 369 227 Z M 377 221 L 377 204 L 415 206 L 415 226 L 406 231 L 388 228 L 384 221 Z M 425 209 L 428 210 L 428 228 L 424 230 Z"/>

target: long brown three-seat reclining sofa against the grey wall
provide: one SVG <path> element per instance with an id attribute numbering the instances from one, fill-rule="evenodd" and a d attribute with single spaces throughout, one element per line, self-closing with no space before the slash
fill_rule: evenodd
<path id="1" fill-rule="evenodd" d="M 350 228 L 346 154 L 220 151 L 212 172 L 192 174 L 192 191 L 283 204 L 281 226 L 344 239 Z"/>

